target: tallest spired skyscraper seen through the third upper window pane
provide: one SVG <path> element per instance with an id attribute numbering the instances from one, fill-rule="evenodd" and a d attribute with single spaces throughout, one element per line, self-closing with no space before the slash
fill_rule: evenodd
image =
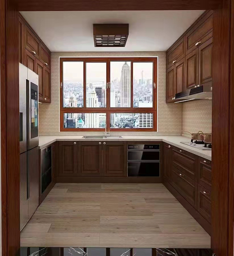
<path id="1" fill-rule="evenodd" d="M 121 108 L 131 107 L 130 67 L 125 61 L 121 70 Z"/>

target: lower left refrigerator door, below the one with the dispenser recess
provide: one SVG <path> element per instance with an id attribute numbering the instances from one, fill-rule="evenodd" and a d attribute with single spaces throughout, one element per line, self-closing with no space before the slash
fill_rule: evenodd
<path id="1" fill-rule="evenodd" d="M 20 230 L 28 222 L 27 152 L 20 154 Z"/>

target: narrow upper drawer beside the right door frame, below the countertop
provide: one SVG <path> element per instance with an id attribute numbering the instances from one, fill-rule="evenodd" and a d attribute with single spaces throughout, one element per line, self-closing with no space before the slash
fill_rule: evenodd
<path id="1" fill-rule="evenodd" d="M 211 162 L 204 158 L 199 161 L 198 183 L 211 191 Z"/>

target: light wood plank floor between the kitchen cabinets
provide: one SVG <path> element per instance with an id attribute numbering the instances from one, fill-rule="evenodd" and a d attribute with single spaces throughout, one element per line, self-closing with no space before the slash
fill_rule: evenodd
<path id="1" fill-rule="evenodd" d="M 163 184 L 57 183 L 21 246 L 210 248 L 210 236 Z"/>

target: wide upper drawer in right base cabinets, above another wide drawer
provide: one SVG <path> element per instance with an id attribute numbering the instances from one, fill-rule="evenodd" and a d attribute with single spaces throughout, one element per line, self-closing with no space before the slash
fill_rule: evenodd
<path id="1" fill-rule="evenodd" d="M 173 146 L 172 159 L 173 166 L 189 178 L 197 180 L 197 156 Z"/>

